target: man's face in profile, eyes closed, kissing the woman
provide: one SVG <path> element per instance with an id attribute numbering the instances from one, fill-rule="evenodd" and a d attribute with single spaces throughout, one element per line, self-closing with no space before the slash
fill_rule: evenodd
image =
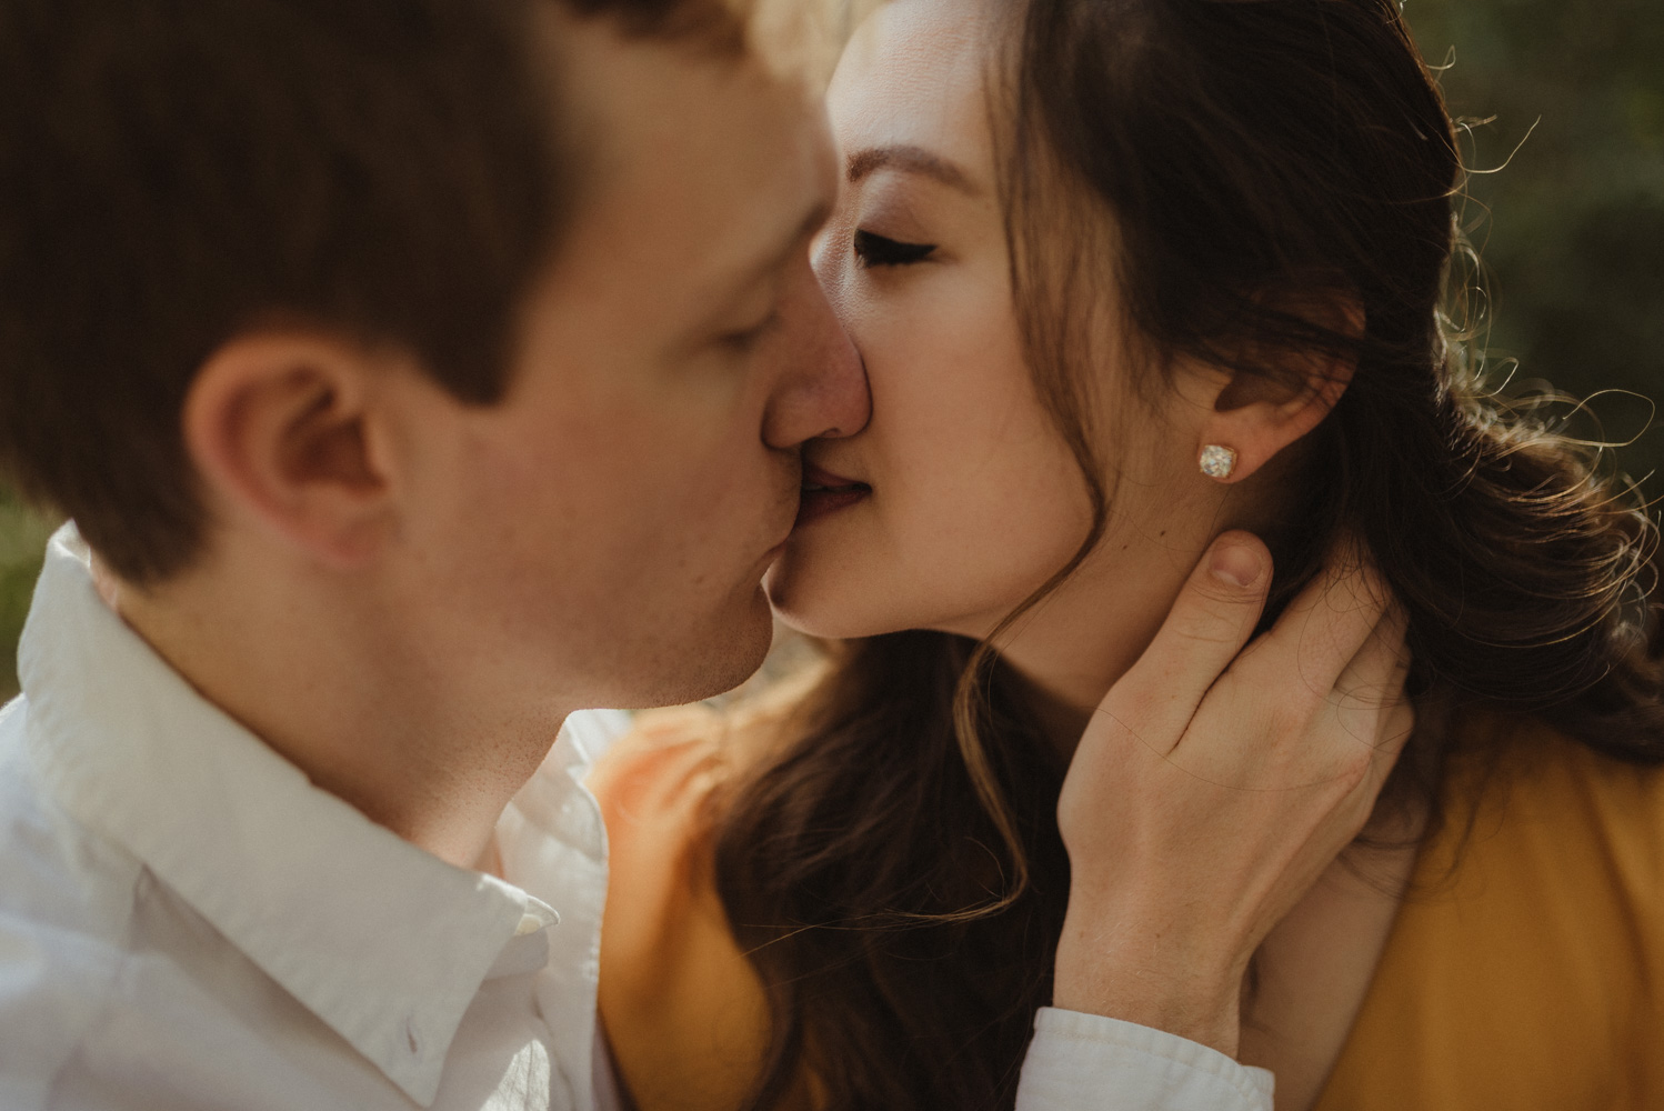
<path id="1" fill-rule="evenodd" d="M 449 406 L 426 620 L 521 697 L 662 705 L 744 680 L 797 447 L 867 421 L 859 359 L 807 243 L 835 190 L 819 101 L 757 60 L 564 23 L 579 200 L 526 301 L 499 406 Z M 509 679 L 513 682 L 513 679 Z"/>

